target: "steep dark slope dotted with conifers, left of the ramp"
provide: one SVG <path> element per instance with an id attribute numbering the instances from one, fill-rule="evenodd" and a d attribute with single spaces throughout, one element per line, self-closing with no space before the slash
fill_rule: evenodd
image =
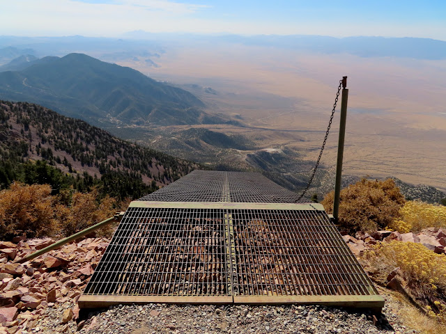
<path id="1" fill-rule="evenodd" d="M 39 160 L 77 180 L 83 177 L 92 183 L 95 177 L 108 177 L 111 189 L 122 186 L 119 182 L 130 182 L 131 188 L 137 186 L 131 183 L 139 180 L 154 190 L 199 167 L 43 106 L 0 101 L 0 187 L 21 175 L 29 177 L 23 175 L 24 164 Z"/>

